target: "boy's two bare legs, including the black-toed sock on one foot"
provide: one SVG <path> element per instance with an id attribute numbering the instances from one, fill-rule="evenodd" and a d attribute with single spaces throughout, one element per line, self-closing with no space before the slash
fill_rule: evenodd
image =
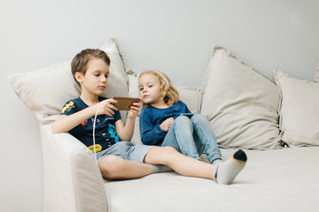
<path id="1" fill-rule="evenodd" d="M 240 149 L 225 163 L 213 165 L 182 155 L 175 148 L 153 147 L 145 155 L 144 163 L 126 161 L 119 156 L 108 155 L 98 162 L 98 167 L 104 178 L 128 179 L 152 174 L 153 168 L 150 164 L 163 164 L 183 176 L 213 178 L 219 184 L 228 185 L 244 168 L 246 160 L 245 152 Z"/>

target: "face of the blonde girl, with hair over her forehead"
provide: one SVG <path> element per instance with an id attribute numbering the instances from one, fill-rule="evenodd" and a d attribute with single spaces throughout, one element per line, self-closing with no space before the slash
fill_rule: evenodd
<path id="1" fill-rule="evenodd" d="M 164 102 L 164 96 L 160 90 L 158 77 L 144 73 L 138 79 L 138 87 L 140 90 L 140 97 L 142 97 L 142 102 L 150 104 L 155 108 L 167 107 Z"/>

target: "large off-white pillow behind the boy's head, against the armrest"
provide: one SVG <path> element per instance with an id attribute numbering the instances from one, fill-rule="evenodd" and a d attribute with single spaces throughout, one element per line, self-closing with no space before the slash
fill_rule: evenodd
<path id="1" fill-rule="evenodd" d="M 119 52 L 119 43 L 112 38 L 101 49 L 111 59 L 109 82 L 104 95 L 128 96 L 128 77 Z M 78 97 L 81 92 L 71 73 L 71 61 L 32 72 L 14 73 L 8 79 L 21 101 L 43 123 L 54 121 L 63 105 Z M 127 113 L 121 112 L 121 116 L 125 120 Z"/>

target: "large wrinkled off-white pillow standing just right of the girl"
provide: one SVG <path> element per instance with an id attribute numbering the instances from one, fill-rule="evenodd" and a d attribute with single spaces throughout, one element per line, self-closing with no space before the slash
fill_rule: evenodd
<path id="1" fill-rule="evenodd" d="M 202 86 L 201 113 L 218 144 L 228 148 L 280 148 L 276 84 L 229 50 L 214 47 Z"/>

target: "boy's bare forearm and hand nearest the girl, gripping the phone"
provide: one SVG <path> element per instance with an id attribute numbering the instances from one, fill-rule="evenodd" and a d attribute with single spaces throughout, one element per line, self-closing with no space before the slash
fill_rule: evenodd
<path id="1" fill-rule="evenodd" d="M 121 120 L 115 122 L 115 130 L 118 133 L 120 140 L 129 141 L 133 137 L 136 116 L 141 109 L 141 102 L 134 102 L 133 106 L 128 110 L 128 119 L 124 125 Z"/>

